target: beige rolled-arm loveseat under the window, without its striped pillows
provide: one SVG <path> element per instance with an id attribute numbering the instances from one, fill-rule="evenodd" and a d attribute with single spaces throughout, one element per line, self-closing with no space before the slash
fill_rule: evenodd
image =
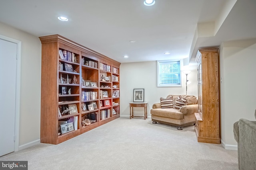
<path id="1" fill-rule="evenodd" d="M 174 108 L 177 98 L 185 98 L 187 103 L 179 109 Z M 150 110 L 152 123 L 164 123 L 167 125 L 177 126 L 178 130 L 182 130 L 183 126 L 194 124 L 195 115 L 198 112 L 198 104 L 196 96 L 189 95 L 168 95 L 166 99 L 172 98 L 174 106 L 172 108 L 161 108 L 161 103 L 153 104 Z M 160 99 L 161 100 L 161 99 Z M 163 106 L 163 104 L 162 104 Z"/>

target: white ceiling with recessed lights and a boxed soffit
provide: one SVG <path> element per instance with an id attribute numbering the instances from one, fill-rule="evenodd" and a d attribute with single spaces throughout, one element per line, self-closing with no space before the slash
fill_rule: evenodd
<path id="1" fill-rule="evenodd" d="M 256 0 L 156 0 L 154 6 L 143 2 L 0 0 L 0 22 L 37 37 L 62 35 L 120 63 L 190 59 L 200 47 L 256 38 Z M 214 35 L 198 36 L 198 23 L 216 26 L 219 21 Z"/>

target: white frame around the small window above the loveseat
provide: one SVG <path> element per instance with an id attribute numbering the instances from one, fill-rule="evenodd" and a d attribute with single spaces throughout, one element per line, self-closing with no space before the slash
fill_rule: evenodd
<path id="1" fill-rule="evenodd" d="M 160 84 L 160 63 L 179 62 L 180 63 L 180 84 Z M 162 60 L 157 61 L 157 87 L 182 87 L 182 60 Z"/>

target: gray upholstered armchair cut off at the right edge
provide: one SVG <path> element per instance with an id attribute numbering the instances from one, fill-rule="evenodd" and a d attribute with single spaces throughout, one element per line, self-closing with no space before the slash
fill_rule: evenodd
<path id="1" fill-rule="evenodd" d="M 238 168 L 240 170 L 255 170 L 256 121 L 240 119 L 239 121 L 234 123 L 234 138 L 238 144 Z"/>

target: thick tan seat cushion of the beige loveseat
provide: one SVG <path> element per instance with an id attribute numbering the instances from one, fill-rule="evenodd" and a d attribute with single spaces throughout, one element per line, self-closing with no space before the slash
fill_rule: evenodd
<path id="1" fill-rule="evenodd" d="M 151 109 L 150 113 L 155 116 L 160 117 L 169 117 L 172 119 L 183 119 L 183 114 L 174 108 L 159 108 L 159 109 Z"/>

